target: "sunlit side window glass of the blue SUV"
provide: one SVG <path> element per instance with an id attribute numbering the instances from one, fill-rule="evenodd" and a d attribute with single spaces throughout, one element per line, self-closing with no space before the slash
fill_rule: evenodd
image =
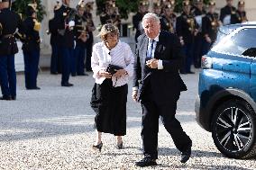
<path id="1" fill-rule="evenodd" d="M 256 29 L 242 29 L 224 44 L 217 44 L 215 51 L 233 55 L 256 57 Z"/>

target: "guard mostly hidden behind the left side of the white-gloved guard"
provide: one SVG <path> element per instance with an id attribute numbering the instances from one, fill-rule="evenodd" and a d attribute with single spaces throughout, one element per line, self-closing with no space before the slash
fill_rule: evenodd
<path id="1" fill-rule="evenodd" d="M 54 17 L 49 20 L 49 30 L 47 34 L 50 34 L 50 46 L 51 46 L 51 58 L 50 58 L 50 74 L 58 75 L 61 73 L 61 54 L 58 40 L 58 22 L 56 22 L 55 13 L 59 10 L 59 1 L 56 2 L 53 8 Z"/>

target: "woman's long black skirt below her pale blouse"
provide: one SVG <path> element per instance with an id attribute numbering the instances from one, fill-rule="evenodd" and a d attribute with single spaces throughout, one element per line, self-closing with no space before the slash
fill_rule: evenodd
<path id="1" fill-rule="evenodd" d="M 128 85 L 113 87 L 111 79 L 105 79 L 101 85 L 94 85 L 91 107 L 96 112 L 96 130 L 114 136 L 126 134 L 127 94 Z"/>

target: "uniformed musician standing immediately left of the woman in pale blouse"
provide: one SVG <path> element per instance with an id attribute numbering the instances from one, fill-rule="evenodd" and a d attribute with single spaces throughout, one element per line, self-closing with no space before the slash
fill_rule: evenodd
<path id="1" fill-rule="evenodd" d="M 91 11 L 93 10 L 93 4 L 94 2 L 88 2 L 86 4 L 86 11 L 84 13 L 84 16 L 87 19 L 87 41 L 86 41 L 86 49 L 87 49 L 87 55 L 86 55 L 86 68 L 87 71 L 92 71 L 91 67 L 91 57 L 92 57 L 92 49 L 94 44 L 94 36 L 93 31 L 96 31 L 95 24 L 93 22 L 93 16 Z"/>

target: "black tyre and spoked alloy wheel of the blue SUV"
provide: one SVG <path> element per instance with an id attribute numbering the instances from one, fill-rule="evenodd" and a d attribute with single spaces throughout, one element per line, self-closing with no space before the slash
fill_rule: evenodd
<path id="1" fill-rule="evenodd" d="M 213 117 L 212 136 L 226 157 L 256 155 L 256 115 L 250 104 L 241 100 L 221 104 Z"/>

